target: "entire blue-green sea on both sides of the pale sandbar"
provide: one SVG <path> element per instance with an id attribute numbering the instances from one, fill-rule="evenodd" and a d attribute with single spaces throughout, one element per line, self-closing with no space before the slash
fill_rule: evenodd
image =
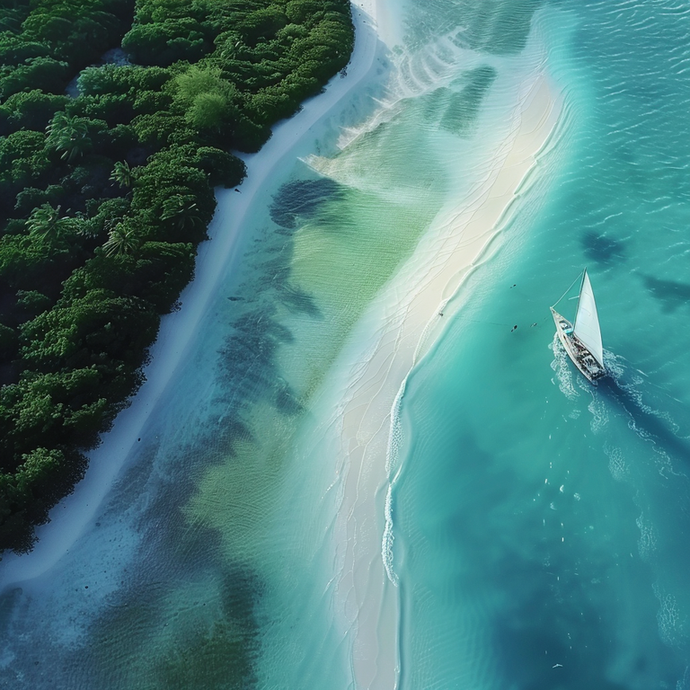
<path id="1" fill-rule="evenodd" d="M 382 7 L 375 76 L 257 194 L 93 519 L 37 577 L 12 563 L 0 688 L 358 687 L 343 353 L 540 73 L 555 131 L 386 421 L 397 685 L 690 689 L 690 6 Z M 549 314 L 584 266 L 597 386 Z"/>

